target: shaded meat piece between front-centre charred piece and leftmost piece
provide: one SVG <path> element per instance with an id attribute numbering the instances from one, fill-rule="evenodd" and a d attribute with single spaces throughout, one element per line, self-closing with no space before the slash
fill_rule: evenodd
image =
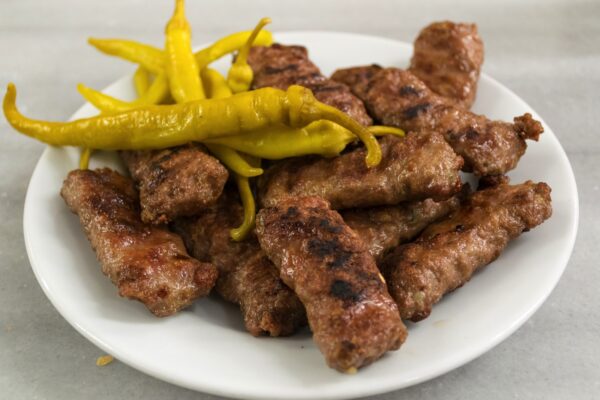
<path id="1" fill-rule="evenodd" d="M 279 279 L 255 237 L 244 242 L 229 239 L 229 230 L 240 224 L 242 213 L 239 200 L 225 191 L 216 205 L 197 217 L 175 221 L 173 227 L 194 257 L 219 269 L 217 292 L 240 305 L 248 332 L 291 335 L 306 325 L 304 306 Z"/>

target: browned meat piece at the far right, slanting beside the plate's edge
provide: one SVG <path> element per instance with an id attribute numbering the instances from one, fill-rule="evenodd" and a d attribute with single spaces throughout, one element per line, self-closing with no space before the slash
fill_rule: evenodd
<path id="1" fill-rule="evenodd" d="M 430 225 L 414 243 L 396 248 L 381 265 L 402 318 L 429 316 L 445 293 L 464 285 L 511 239 L 551 214 L 545 183 L 500 184 L 475 192 L 457 212 Z"/>

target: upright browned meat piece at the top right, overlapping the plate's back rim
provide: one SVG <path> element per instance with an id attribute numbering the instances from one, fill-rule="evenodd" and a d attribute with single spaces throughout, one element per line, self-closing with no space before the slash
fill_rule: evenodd
<path id="1" fill-rule="evenodd" d="M 477 25 L 443 21 L 419 33 L 410 72 L 434 93 L 468 110 L 475 101 L 482 64 L 483 42 Z"/>

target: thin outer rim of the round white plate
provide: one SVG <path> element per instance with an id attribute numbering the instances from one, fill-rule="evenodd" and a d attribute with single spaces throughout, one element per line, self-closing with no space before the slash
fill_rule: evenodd
<path id="1" fill-rule="evenodd" d="M 360 33 L 355 33 L 355 32 L 344 32 L 344 31 L 323 31 L 323 30 L 287 30 L 287 31 L 275 31 L 274 32 L 274 36 L 277 37 L 279 35 L 289 35 L 289 34 L 293 34 L 293 35 L 315 35 L 315 36 L 321 36 L 321 35 L 326 35 L 326 36 L 355 36 L 355 37 L 360 37 L 360 38 L 364 38 L 364 39 L 371 39 L 371 40 L 385 40 L 385 41 L 389 41 L 390 43 L 393 43 L 394 45 L 398 45 L 401 44 L 405 47 L 410 47 L 412 48 L 412 44 L 404 42 L 404 41 L 400 41 L 400 40 L 395 40 L 392 38 L 388 38 L 385 36 L 377 36 L 377 35 L 368 35 L 368 34 L 360 34 Z M 485 79 L 489 80 L 489 82 L 497 87 L 500 88 L 501 90 L 507 91 L 513 98 L 515 101 L 518 101 L 519 103 L 521 103 L 521 105 L 526 106 L 531 112 L 532 114 L 534 114 L 537 118 L 539 118 L 539 120 L 544 124 L 544 126 L 549 127 L 548 124 L 546 124 L 543 119 L 539 116 L 539 114 L 537 112 L 535 112 L 535 110 L 529 106 L 527 104 L 527 102 L 525 102 L 521 97 L 519 97 L 516 93 L 514 93 L 509 87 L 501 84 L 499 81 L 497 81 L 496 79 L 490 77 L 489 75 L 487 75 L 486 73 L 482 72 L 482 77 L 485 77 Z M 118 85 L 118 83 L 121 80 L 124 79 L 128 79 L 131 77 L 131 74 L 127 74 L 124 75 L 122 77 L 119 77 L 118 79 L 116 79 L 115 81 L 111 82 L 107 87 L 105 87 L 103 90 L 108 89 L 109 87 L 113 86 L 113 85 Z M 84 102 L 73 114 L 70 118 L 72 118 L 74 115 L 76 115 L 77 113 L 79 113 L 86 105 L 88 105 L 89 103 Z M 550 128 L 550 131 L 552 132 L 552 129 Z M 322 399 L 347 399 L 347 398 L 356 398 L 356 397 L 362 397 L 362 396 L 369 396 L 369 395 L 377 395 L 377 394 L 382 394 L 382 393 L 387 393 L 390 391 L 394 391 L 394 390 L 398 390 L 398 389 L 403 389 L 403 388 L 407 388 L 419 383 L 423 383 L 426 382 L 428 380 L 431 380 L 433 378 L 436 378 L 438 376 L 441 376 L 443 374 L 448 373 L 449 371 L 458 368 L 460 366 L 463 366 L 469 362 L 471 362 L 472 360 L 478 358 L 479 356 L 485 354 L 486 352 L 488 352 L 489 350 L 491 350 L 492 348 L 494 348 L 495 346 L 497 346 L 499 343 L 501 343 L 502 341 L 504 341 L 505 339 L 507 339 L 509 336 L 511 336 L 514 332 L 516 332 L 529 318 L 531 318 L 531 316 L 542 306 L 542 304 L 544 304 L 544 302 L 547 300 L 547 298 L 550 296 L 550 294 L 554 291 L 554 289 L 556 288 L 556 285 L 558 284 L 560 278 L 562 277 L 562 275 L 564 274 L 564 271 L 569 263 L 569 260 L 572 256 L 573 253 L 573 248 L 576 242 L 576 238 L 577 238 L 577 233 L 579 230 L 579 190 L 577 187 L 577 181 L 575 178 L 575 174 L 573 171 L 573 167 L 571 165 L 571 162 L 564 150 L 564 148 L 562 147 L 560 141 L 558 140 L 558 138 L 556 137 L 556 135 L 554 134 L 554 132 L 552 132 L 551 136 L 552 140 L 554 140 L 557 145 L 557 148 L 559 150 L 560 156 L 561 158 L 563 158 L 563 161 L 565 161 L 566 165 L 568 166 L 568 171 L 566 171 L 569 175 L 569 178 L 572 180 L 573 183 L 573 208 L 571 210 L 571 212 L 573 213 L 573 224 L 572 224 L 572 229 L 569 232 L 569 243 L 568 243 L 568 251 L 565 251 L 563 254 L 565 254 L 564 258 L 564 262 L 561 263 L 562 264 L 562 269 L 560 271 L 560 274 L 557 275 L 555 281 L 552 283 L 551 288 L 543 295 L 540 296 L 537 301 L 535 302 L 535 304 L 533 304 L 526 312 L 524 312 L 520 318 L 518 318 L 517 320 L 515 320 L 513 322 L 513 324 L 507 328 L 506 330 L 504 330 L 503 332 L 499 333 L 498 335 L 496 335 L 494 338 L 492 338 L 491 340 L 487 341 L 485 345 L 482 345 L 480 347 L 477 347 L 475 349 L 471 349 L 468 352 L 461 353 L 461 356 L 455 357 L 455 359 L 451 359 L 449 361 L 447 361 L 445 364 L 442 365 L 438 365 L 435 367 L 432 367 L 428 373 L 425 374 L 421 374 L 418 377 L 413 377 L 412 379 L 407 379 L 404 380 L 401 384 L 387 384 L 387 385 L 378 385 L 376 388 L 364 388 L 363 390 L 358 390 L 358 391 L 354 391 L 352 393 L 351 396 L 348 396 L 345 393 L 337 393 L 337 394 L 330 394 L 327 393 L 323 396 L 321 396 Z M 244 390 L 244 389 L 237 389 L 236 385 L 232 385 L 230 387 L 227 388 L 223 388 L 222 386 L 219 385 L 211 385 L 210 383 L 207 384 L 207 382 L 204 382 L 203 385 L 198 385 L 198 386 L 193 386 L 190 385 L 188 382 L 182 380 L 182 379 L 177 379 L 177 378 L 172 378 L 171 376 L 168 375 L 161 375 L 160 372 L 157 372 L 153 369 L 151 369 L 150 367 L 146 367 L 144 364 L 138 363 L 136 360 L 132 360 L 129 358 L 129 356 L 127 354 L 125 354 L 124 357 L 122 357 L 123 353 L 121 353 L 121 356 L 119 355 L 115 355 L 114 354 L 114 348 L 109 344 L 104 342 L 102 339 L 100 339 L 99 337 L 97 337 L 93 332 L 89 331 L 88 329 L 86 329 L 85 327 L 83 327 L 82 325 L 80 325 L 76 318 L 73 315 L 70 315 L 69 312 L 65 311 L 57 302 L 57 299 L 53 297 L 51 289 L 48 287 L 47 282 L 43 279 L 43 277 L 40 275 L 40 271 L 37 267 L 35 267 L 35 265 L 38 265 L 37 261 L 37 257 L 36 254 L 31 250 L 32 249 L 32 243 L 31 243 L 31 234 L 29 232 L 29 228 L 28 228 L 28 218 L 29 218 L 29 211 L 28 209 L 31 207 L 31 202 L 32 202 L 32 182 L 33 182 L 33 177 L 36 175 L 36 173 L 38 172 L 38 169 L 41 168 L 41 163 L 43 161 L 43 159 L 45 157 L 47 157 L 47 155 L 49 154 L 49 152 L 51 151 L 52 146 L 47 146 L 44 151 L 42 152 L 40 158 L 38 159 L 33 172 L 31 174 L 29 183 L 27 185 L 27 192 L 26 192 L 26 196 L 25 196 L 25 201 L 24 201 L 24 205 L 23 205 L 23 236 L 24 236 L 24 241 L 25 241 L 25 247 L 26 247 L 26 252 L 27 252 L 27 256 L 30 262 L 30 266 L 31 269 L 34 272 L 34 275 L 36 277 L 36 280 L 38 281 L 38 284 L 42 287 L 42 290 L 44 292 L 44 294 L 46 295 L 46 297 L 48 298 L 48 300 L 50 301 L 50 303 L 54 306 L 54 308 L 58 311 L 58 313 L 71 325 L 75 328 L 75 330 L 77 332 L 79 332 L 83 337 L 85 337 L 87 340 L 89 340 L 90 342 L 92 342 L 94 345 L 96 345 L 97 347 L 99 347 L 100 349 L 102 349 L 103 351 L 114 355 L 117 359 L 119 359 L 119 361 L 125 363 L 126 365 L 141 371 L 147 375 L 150 375 L 156 379 L 168 382 L 170 384 L 174 384 L 180 387 L 184 387 L 190 390 L 195 390 L 195 391 L 201 391 L 204 393 L 208 393 L 208 394 L 213 394 L 213 395 L 218 395 L 218 396 L 226 396 L 226 397 L 233 397 L 233 398 L 250 398 L 250 399 L 271 399 L 271 398 L 278 398 L 277 395 L 273 394 L 272 392 L 269 391 L 264 391 L 261 388 L 258 389 L 254 389 L 254 390 Z M 312 399 L 315 398 L 314 396 L 306 396 L 306 395 L 294 395 L 293 393 L 287 393 L 286 394 L 286 398 L 289 399 Z"/>

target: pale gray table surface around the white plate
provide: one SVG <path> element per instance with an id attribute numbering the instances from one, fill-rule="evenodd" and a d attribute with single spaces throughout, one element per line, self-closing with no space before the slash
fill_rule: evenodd
<path id="1" fill-rule="evenodd" d="M 477 22 L 485 72 L 553 128 L 575 170 L 581 222 L 560 283 L 514 335 L 475 361 L 370 399 L 600 398 L 600 2 L 188 0 L 195 42 L 273 17 L 274 30 L 361 32 L 412 41 L 439 19 Z M 28 115 L 62 120 L 132 67 L 90 48 L 88 36 L 161 44 L 171 1 L 0 1 L 0 87 L 19 86 Z M 29 266 L 22 232 L 27 183 L 44 146 L 0 118 L 0 398 L 215 399 L 142 374 L 103 352 L 52 307 Z"/>

